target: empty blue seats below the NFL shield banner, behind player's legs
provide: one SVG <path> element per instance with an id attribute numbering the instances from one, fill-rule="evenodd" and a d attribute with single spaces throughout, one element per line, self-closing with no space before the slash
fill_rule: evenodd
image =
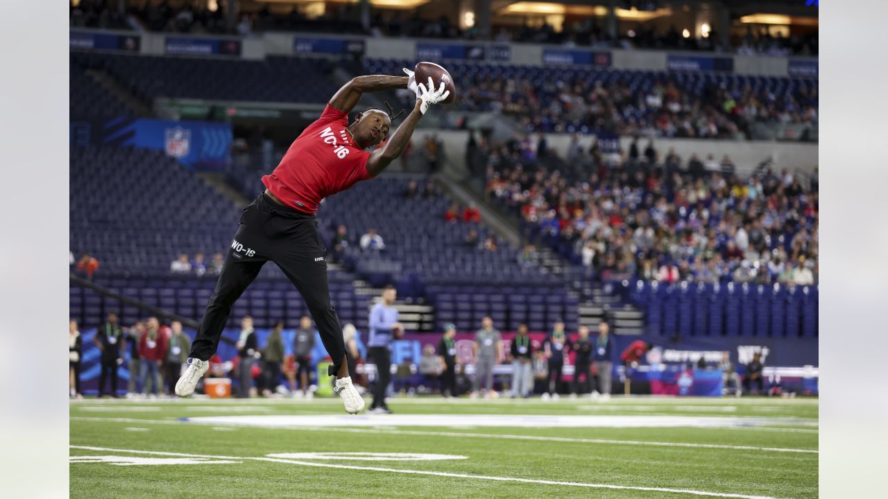
<path id="1" fill-rule="evenodd" d="M 70 247 L 97 257 L 94 281 L 187 318 L 199 319 L 215 285 L 212 275 L 170 274 L 180 253 L 224 251 L 239 213 L 194 173 L 161 152 L 83 147 L 71 150 Z M 340 319 L 366 326 L 368 298 L 356 294 L 354 276 L 331 271 L 330 295 Z M 71 288 L 71 315 L 86 326 L 114 311 L 124 323 L 144 316 L 134 307 Z M 234 305 L 233 317 L 250 313 L 259 327 L 293 324 L 305 313 L 296 289 L 276 265 L 266 265 Z"/>

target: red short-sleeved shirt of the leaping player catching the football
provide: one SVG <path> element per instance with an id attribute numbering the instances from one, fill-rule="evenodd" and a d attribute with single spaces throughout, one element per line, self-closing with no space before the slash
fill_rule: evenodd
<path id="1" fill-rule="evenodd" d="M 290 208 L 311 214 L 325 197 L 373 178 L 367 171 L 370 154 L 354 145 L 347 126 L 348 115 L 328 104 L 262 183 Z"/>

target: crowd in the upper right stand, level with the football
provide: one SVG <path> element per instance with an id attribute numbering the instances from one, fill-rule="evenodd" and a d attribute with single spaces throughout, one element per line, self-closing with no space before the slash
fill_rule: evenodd
<path id="1" fill-rule="evenodd" d="M 534 82 L 502 75 L 464 75 L 457 86 L 468 89 L 463 110 L 515 116 L 525 131 L 749 139 L 752 123 L 818 122 L 816 85 L 778 93 L 710 84 L 697 91 L 669 75 L 651 77 L 649 88 L 623 77 Z"/>

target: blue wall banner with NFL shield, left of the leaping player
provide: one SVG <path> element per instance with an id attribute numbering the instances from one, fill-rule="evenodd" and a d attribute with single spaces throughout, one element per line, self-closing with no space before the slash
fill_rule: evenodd
<path id="1" fill-rule="evenodd" d="M 71 122 L 73 146 L 115 146 L 155 149 L 200 170 L 222 168 L 232 143 L 228 123 L 174 122 L 116 118 L 107 122 Z"/>

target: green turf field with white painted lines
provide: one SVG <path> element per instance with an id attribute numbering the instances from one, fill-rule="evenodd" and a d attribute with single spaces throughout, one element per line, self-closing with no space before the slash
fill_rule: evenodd
<path id="1" fill-rule="evenodd" d="M 817 400 L 389 405 L 346 416 L 334 399 L 78 400 L 71 497 L 818 495 Z"/>

